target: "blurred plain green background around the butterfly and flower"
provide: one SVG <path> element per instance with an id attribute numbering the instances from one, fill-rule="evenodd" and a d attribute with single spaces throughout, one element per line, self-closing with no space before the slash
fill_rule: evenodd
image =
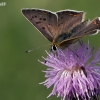
<path id="1" fill-rule="evenodd" d="M 86 19 L 100 16 L 100 0 L 0 0 L 0 100 L 56 100 L 46 98 L 51 89 L 39 85 L 44 81 L 46 67 L 37 60 L 46 57 L 44 47 L 25 53 L 26 50 L 49 42 L 22 16 L 22 8 L 41 8 L 51 11 L 72 9 L 85 11 Z M 99 32 L 100 33 L 100 32 Z M 87 36 L 91 46 L 100 46 L 100 34 Z M 60 100 L 60 98 L 59 98 Z"/>

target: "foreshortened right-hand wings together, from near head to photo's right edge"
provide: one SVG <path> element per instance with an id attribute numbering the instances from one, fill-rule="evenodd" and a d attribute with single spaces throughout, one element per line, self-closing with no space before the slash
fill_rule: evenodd
<path id="1" fill-rule="evenodd" d="M 96 18 L 93 21 L 84 21 L 80 25 L 76 26 L 75 28 L 72 29 L 72 35 L 70 37 L 58 44 L 59 47 L 65 48 L 68 47 L 69 45 L 75 43 L 76 41 L 79 40 L 79 38 L 95 34 L 100 30 L 100 18 Z"/>

